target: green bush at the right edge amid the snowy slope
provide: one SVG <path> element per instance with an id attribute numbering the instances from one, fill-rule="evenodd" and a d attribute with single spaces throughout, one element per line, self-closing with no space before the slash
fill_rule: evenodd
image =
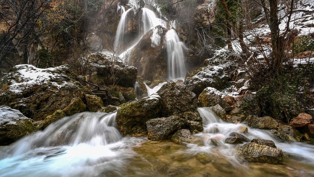
<path id="1" fill-rule="evenodd" d="M 301 36 L 294 43 L 291 43 L 291 49 L 295 55 L 305 51 L 314 51 L 314 38 Z"/>

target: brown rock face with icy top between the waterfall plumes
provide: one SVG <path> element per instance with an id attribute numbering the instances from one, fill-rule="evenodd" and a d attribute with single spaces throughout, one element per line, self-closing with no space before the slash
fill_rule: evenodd
<path id="1" fill-rule="evenodd" d="M 138 75 L 144 80 L 165 80 L 166 58 L 163 48 L 167 30 L 161 26 L 147 32 L 135 45 L 129 56 L 129 63 L 138 69 Z M 152 41 L 152 36 L 159 40 Z"/>

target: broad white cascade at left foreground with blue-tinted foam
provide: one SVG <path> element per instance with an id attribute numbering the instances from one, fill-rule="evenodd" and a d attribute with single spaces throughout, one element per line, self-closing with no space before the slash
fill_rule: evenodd
<path id="1" fill-rule="evenodd" d="M 121 176 L 131 147 L 145 138 L 122 138 L 115 113 L 78 113 L 0 149 L 0 176 Z"/>

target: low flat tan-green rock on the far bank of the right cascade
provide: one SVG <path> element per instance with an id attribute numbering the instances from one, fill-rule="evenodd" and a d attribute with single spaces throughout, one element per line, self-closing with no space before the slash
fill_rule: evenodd
<path id="1" fill-rule="evenodd" d="M 278 122 L 269 116 L 259 118 L 252 117 L 248 120 L 248 125 L 252 128 L 267 130 L 277 129 L 279 126 Z"/>

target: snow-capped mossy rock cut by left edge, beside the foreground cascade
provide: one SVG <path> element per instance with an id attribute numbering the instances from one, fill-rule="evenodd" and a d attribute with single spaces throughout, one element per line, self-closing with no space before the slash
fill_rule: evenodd
<path id="1" fill-rule="evenodd" d="M 0 146 L 8 145 L 35 129 L 32 120 L 19 110 L 0 106 Z"/>

